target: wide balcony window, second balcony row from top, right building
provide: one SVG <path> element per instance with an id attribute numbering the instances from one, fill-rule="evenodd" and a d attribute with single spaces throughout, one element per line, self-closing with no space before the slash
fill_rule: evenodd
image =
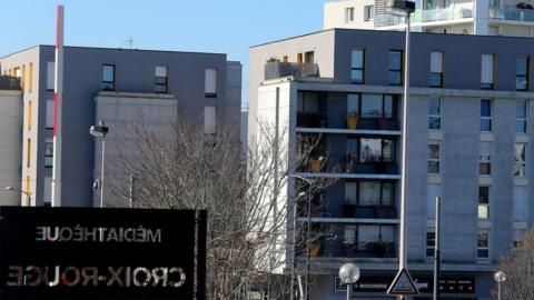
<path id="1" fill-rule="evenodd" d="M 392 162 L 395 141 L 389 139 L 359 139 L 359 162 Z"/>

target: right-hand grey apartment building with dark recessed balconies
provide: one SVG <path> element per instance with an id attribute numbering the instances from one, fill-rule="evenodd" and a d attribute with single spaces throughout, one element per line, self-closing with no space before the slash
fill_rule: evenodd
<path id="1" fill-rule="evenodd" d="M 490 300 L 501 256 L 534 221 L 534 39 L 414 33 L 408 107 L 408 269 L 432 299 L 435 198 L 442 197 L 441 299 Z M 335 178 L 309 210 L 310 299 L 345 299 L 338 268 L 355 262 L 357 299 L 385 292 L 398 270 L 404 33 L 330 29 L 250 48 L 249 133 L 278 120 L 290 153 L 320 139 L 327 160 L 295 176 Z M 305 59 L 306 58 L 306 59 Z M 334 170 L 334 171 L 332 171 Z M 303 186 L 303 184 L 298 184 Z M 307 214 L 309 211 L 310 214 Z M 287 249 L 306 270 L 307 249 Z"/>

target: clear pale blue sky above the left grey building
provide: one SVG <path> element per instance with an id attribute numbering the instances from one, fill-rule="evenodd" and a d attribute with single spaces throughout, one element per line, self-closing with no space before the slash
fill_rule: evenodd
<path id="1" fill-rule="evenodd" d="M 227 53 L 244 64 L 250 46 L 322 30 L 324 0 L 0 0 L 0 57 L 53 44 L 65 6 L 65 44 Z"/>

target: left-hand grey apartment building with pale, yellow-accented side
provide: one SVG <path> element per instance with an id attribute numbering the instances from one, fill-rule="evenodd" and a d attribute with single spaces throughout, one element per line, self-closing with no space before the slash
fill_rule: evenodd
<path id="1" fill-rule="evenodd" d="M 20 170 L 11 171 L 20 173 L 22 204 L 51 201 L 53 60 L 52 46 L 0 58 L 0 73 L 21 81 L 23 117 L 13 122 L 20 122 L 14 132 L 21 132 L 22 154 L 16 160 Z M 240 63 L 228 61 L 226 54 L 65 47 L 61 204 L 91 207 L 99 194 L 93 182 L 100 177 L 101 139 L 96 141 L 89 128 L 100 119 L 109 127 L 107 167 L 118 156 L 118 141 L 134 138 L 136 122 L 157 130 L 177 119 L 188 120 L 209 133 L 218 123 L 231 123 L 238 144 L 240 77 Z M 3 120 L 4 111 L 0 113 Z M 106 193 L 108 203 L 125 204 L 111 197 Z"/>

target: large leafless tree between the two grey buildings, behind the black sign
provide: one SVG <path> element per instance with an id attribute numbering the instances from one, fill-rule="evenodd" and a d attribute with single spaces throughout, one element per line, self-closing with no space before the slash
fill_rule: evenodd
<path id="1" fill-rule="evenodd" d="M 187 122 L 158 131 L 138 124 L 130 134 L 136 139 L 120 147 L 118 163 L 110 168 L 111 189 L 125 201 L 131 197 L 128 178 L 135 176 L 135 207 L 208 210 L 208 299 L 235 299 L 258 284 L 281 293 L 289 288 L 287 276 L 274 276 L 293 262 L 286 256 L 293 246 L 288 214 L 296 199 L 287 184 L 289 176 L 308 163 L 318 139 L 304 139 L 305 150 L 289 160 L 287 130 L 260 128 L 245 162 L 231 127 L 219 124 L 217 134 L 205 134 Z M 314 194 L 332 183 L 317 178 L 303 188 Z M 305 232 L 305 227 L 297 230 Z M 298 243 L 299 251 L 310 244 L 301 239 Z"/>

